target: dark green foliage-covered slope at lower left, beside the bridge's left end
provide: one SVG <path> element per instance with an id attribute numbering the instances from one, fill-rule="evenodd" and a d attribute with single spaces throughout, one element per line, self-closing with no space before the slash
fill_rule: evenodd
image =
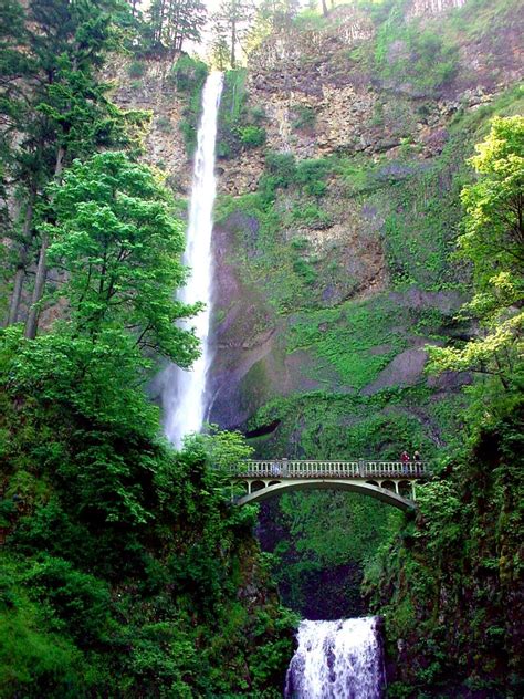
<path id="1" fill-rule="evenodd" d="M 17 561 L 0 581 L 3 695 L 227 693 L 243 687 L 244 653 L 254 690 L 280 684 L 294 620 L 268 596 L 253 510 L 229 503 L 223 470 L 250 453 L 240 436 L 214 430 L 177 455 L 158 438 L 138 357 L 124 366 L 86 344 L 76 362 L 60 327 L 34 342 L 11 328 L 0 347 L 0 458 L 15 503 L 0 565 Z M 239 604 L 243 585 L 263 586 L 265 602 Z"/>

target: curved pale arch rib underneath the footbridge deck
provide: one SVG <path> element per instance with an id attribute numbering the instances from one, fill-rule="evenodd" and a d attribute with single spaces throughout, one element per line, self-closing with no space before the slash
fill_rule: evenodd
<path id="1" fill-rule="evenodd" d="M 259 481 L 260 482 L 260 481 Z M 394 490 L 388 488 L 381 488 L 380 486 L 374 486 L 368 482 L 352 482 L 345 480 L 284 480 L 280 482 L 271 481 L 265 488 L 259 488 L 258 490 L 242 495 L 237 500 L 238 505 L 250 504 L 255 502 L 262 502 L 269 500 L 275 495 L 280 495 L 284 492 L 297 491 L 297 490 L 346 490 L 349 492 L 358 492 L 365 495 L 391 504 L 399 510 L 411 510 L 415 508 L 415 502 L 405 498 Z"/>

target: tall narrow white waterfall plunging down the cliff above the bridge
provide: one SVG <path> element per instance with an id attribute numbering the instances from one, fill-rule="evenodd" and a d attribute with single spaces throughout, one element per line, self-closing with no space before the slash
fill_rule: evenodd
<path id="1" fill-rule="evenodd" d="M 211 73 L 202 91 L 202 116 L 198 129 L 197 150 L 191 188 L 191 204 L 184 263 L 191 275 L 179 298 L 186 303 L 206 304 L 195 319 L 186 323 L 195 327 L 201 343 L 201 355 L 189 371 L 175 365 L 163 373 L 164 426 L 169 441 L 181 446 L 189 432 L 198 432 L 206 418 L 206 377 L 212 359 L 209 346 L 212 292 L 211 232 L 213 204 L 217 194 L 214 178 L 214 145 L 217 117 L 222 92 L 222 74 Z"/>

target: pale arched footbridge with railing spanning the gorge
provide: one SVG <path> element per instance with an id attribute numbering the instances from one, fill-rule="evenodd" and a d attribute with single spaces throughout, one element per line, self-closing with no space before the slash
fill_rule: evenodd
<path id="1" fill-rule="evenodd" d="M 415 508 L 417 484 L 429 476 L 425 461 L 245 461 L 231 471 L 231 484 L 241 484 L 239 505 L 260 502 L 292 490 L 348 490 L 400 510 Z"/>

